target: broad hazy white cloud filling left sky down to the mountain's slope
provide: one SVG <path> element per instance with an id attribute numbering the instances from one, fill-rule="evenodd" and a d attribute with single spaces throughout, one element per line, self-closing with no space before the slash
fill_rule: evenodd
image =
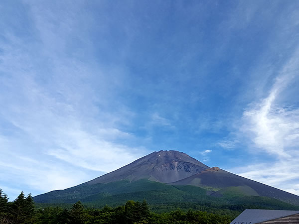
<path id="1" fill-rule="evenodd" d="M 8 31 L 0 40 L 0 185 L 11 194 L 19 183 L 33 194 L 62 189 L 147 154 L 119 143 L 135 138 L 118 127 L 134 116 L 117 100 L 122 69 L 83 62 L 66 47 L 69 35 L 85 38 L 75 11 L 60 11 L 62 19 L 43 4 L 28 8 L 35 40 Z"/>

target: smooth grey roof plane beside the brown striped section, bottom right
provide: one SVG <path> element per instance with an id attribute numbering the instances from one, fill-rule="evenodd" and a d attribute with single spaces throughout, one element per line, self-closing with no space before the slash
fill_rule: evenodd
<path id="1" fill-rule="evenodd" d="M 246 209 L 231 224 L 255 224 L 294 214 L 299 214 L 299 211 Z"/>

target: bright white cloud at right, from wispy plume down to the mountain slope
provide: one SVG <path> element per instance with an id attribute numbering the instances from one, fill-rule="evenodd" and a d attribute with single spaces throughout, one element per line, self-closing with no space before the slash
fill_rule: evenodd
<path id="1" fill-rule="evenodd" d="M 299 193 L 299 109 L 284 105 L 283 93 L 296 81 L 299 69 L 299 50 L 281 69 L 269 95 L 251 104 L 243 113 L 239 137 L 253 143 L 252 151 L 270 155 L 274 161 L 238 167 L 232 172 L 241 176 Z M 254 162 L 254 161 L 252 161 Z M 295 183 L 295 184 L 294 184 Z"/>

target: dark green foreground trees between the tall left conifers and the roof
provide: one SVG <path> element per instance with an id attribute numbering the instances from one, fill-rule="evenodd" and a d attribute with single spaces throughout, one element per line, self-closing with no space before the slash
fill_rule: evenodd
<path id="1" fill-rule="evenodd" d="M 74 209 L 74 207 L 76 207 Z M 182 211 L 176 209 L 168 213 L 153 213 L 149 206 L 143 203 L 128 201 L 116 208 L 78 209 L 76 203 L 70 210 L 61 208 L 46 208 L 38 210 L 36 224 L 229 224 L 232 218 L 201 211 Z"/>

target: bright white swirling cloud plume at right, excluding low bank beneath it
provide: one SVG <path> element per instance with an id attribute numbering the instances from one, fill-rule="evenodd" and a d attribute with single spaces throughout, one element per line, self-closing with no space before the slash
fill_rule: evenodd
<path id="1" fill-rule="evenodd" d="M 292 156 L 288 151 L 299 146 L 299 109 L 284 108 L 276 104 L 279 94 L 298 73 L 299 51 L 284 66 L 267 98 L 244 112 L 241 128 L 255 146 L 273 155 Z"/>

